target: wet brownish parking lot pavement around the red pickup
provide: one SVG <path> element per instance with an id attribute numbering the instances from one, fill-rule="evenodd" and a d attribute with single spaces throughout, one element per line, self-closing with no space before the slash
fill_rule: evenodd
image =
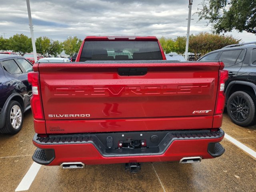
<path id="1" fill-rule="evenodd" d="M 24 118 L 18 134 L 0 134 L 1 192 L 20 190 L 20 183 L 33 164 L 36 147 L 32 144 L 31 111 Z M 256 126 L 237 126 L 224 114 L 222 129 L 252 153 L 256 151 Z M 126 172 L 123 164 L 65 170 L 59 166 L 40 166 L 27 191 L 256 191 L 256 159 L 226 138 L 221 143 L 226 152 L 219 158 L 194 164 L 142 163 L 136 174 Z"/>

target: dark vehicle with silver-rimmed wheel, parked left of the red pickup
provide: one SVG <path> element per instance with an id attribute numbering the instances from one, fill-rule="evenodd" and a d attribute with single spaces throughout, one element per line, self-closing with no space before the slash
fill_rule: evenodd
<path id="1" fill-rule="evenodd" d="M 16 134 L 22 128 L 32 96 L 30 71 L 32 64 L 24 57 L 0 54 L 0 133 Z"/>

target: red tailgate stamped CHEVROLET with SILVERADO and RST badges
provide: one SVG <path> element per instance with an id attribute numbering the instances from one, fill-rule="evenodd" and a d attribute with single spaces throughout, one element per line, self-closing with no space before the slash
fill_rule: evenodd
<path id="1" fill-rule="evenodd" d="M 127 76 L 141 68 L 146 74 Z M 46 132 L 212 128 L 219 69 L 219 62 L 38 64 Z"/>

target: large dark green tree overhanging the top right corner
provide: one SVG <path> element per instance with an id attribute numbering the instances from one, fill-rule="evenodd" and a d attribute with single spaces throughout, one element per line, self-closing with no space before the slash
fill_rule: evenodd
<path id="1" fill-rule="evenodd" d="M 256 0 L 203 0 L 196 12 L 214 32 L 238 30 L 256 34 Z M 207 25 L 208 25 L 207 24 Z"/>

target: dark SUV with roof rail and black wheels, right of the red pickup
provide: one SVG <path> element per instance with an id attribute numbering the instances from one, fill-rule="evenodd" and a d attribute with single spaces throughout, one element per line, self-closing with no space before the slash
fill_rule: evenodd
<path id="1" fill-rule="evenodd" d="M 220 60 L 228 70 L 225 83 L 228 116 L 240 126 L 256 123 L 256 42 L 234 44 L 212 51 L 200 61 Z"/>

